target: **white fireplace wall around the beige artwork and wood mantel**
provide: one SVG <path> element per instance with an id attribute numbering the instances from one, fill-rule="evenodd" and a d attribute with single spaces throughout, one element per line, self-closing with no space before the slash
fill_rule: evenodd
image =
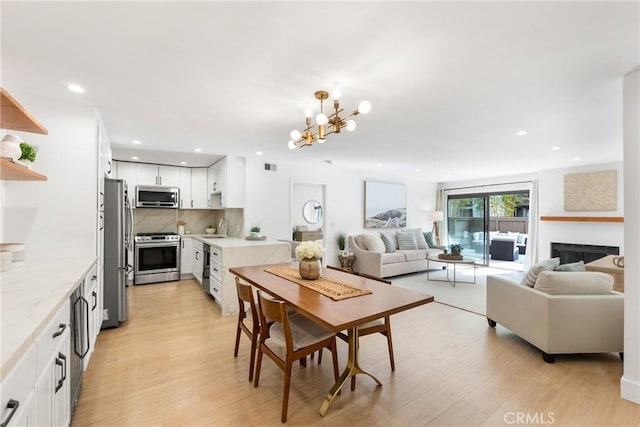
<path id="1" fill-rule="evenodd" d="M 540 216 L 623 216 L 624 182 L 622 162 L 551 169 L 538 174 Z M 617 209 L 615 211 L 566 212 L 564 210 L 564 176 L 566 174 L 617 171 Z M 624 224 L 609 222 L 540 221 L 538 258 L 551 255 L 551 242 L 619 246 L 624 254 Z"/>

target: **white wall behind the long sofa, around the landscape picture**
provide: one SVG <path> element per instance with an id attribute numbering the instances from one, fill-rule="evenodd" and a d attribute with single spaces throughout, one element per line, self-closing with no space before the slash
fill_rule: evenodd
<path id="1" fill-rule="evenodd" d="M 265 171 L 263 163 L 276 163 L 276 172 Z M 336 265 L 338 233 L 356 234 L 364 229 L 364 181 L 407 184 L 407 226 L 431 230 L 426 212 L 435 208 L 436 184 L 409 181 L 398 176 L 346 170 L 323 162 L 280 163 L 262 157 L 247 158 L 245 224 L 259 223 L 261 233 L 275 239 L 291 239 L 290 188 L 292 182 L 326 185 L 325 239 L 327 263 Z M 247 230 L 248 231 L 248 230 Z"/>

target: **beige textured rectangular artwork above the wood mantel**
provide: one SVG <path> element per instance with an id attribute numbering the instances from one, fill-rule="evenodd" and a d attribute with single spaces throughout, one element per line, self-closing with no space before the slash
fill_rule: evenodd
<path id="1" fill-rule="evenodd" d="M 565 211 L 615 211 L 615 170 L 575 173 L 564 176 Z"/>

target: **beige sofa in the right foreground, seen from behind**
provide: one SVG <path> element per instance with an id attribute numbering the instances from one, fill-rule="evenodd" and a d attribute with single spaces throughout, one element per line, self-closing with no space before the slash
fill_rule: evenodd
<path id="1" fill-rule="evenodd" d="M 556 354 L 618 352 L 622 358 L 624 295 L 602 288 L 599 294 L 576 294 L 583 288 L 589 292 L 594 280 L 611 289 L 611 276 L 593 273 L 545 271 L 533 288 L 520 283 L 522 274 L 487 276 L 489 326 L 499 323 L 512 330 L 540 349 L 547 363 Z M 543 279 L 546 292 L 539 286 Z M 564 283 L 571 294 L 552 294 L 549 283 Z"/>

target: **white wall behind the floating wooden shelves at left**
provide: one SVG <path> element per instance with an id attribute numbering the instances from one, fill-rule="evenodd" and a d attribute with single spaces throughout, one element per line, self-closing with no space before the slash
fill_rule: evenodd
<path id="1" fill-rule="evenodd" d="M 3 242 L 24 242 L 27 259 L 96 253 L 97 149 L 93 108 L 12 93 L 49 135 L 6 131 L 37 146 L 33 169 L 47 181 L 2 181 Z"/>

